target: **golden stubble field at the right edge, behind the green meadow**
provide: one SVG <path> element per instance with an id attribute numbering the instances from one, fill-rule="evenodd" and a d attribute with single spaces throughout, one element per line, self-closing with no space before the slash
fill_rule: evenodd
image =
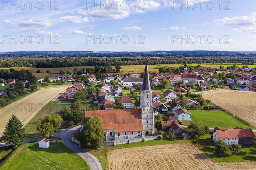
<path id="1" fill-rule="evenodd" d="M 239 90 L 215 90 L 202 93 L 205 99 L 217 104 L 234 116 L 256 127 L 256 92 Z"/>

